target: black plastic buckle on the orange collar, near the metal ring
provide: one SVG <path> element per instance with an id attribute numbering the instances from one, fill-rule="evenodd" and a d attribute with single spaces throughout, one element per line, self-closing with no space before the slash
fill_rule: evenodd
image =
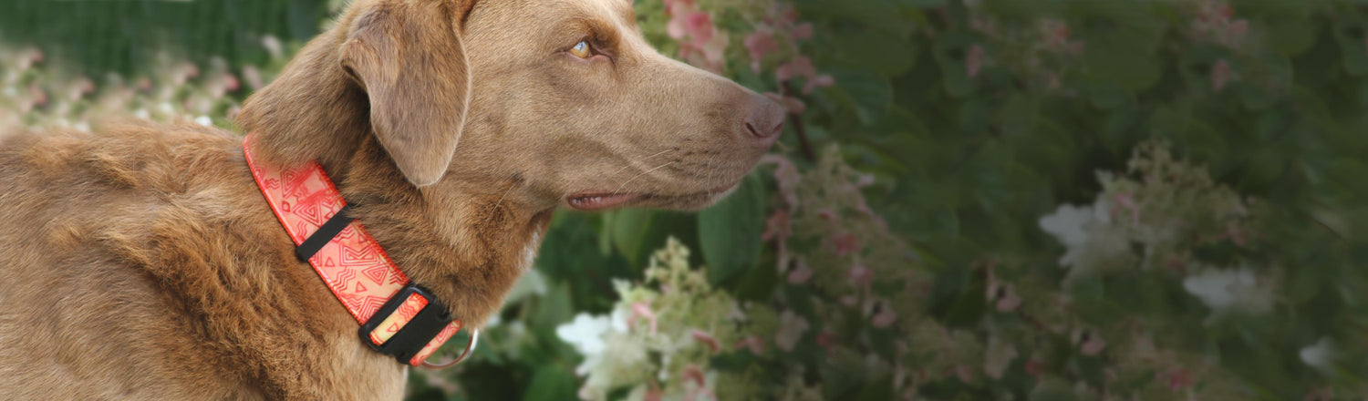
<path id="1" fill-rule="evenodd" d="M 379 327 L 386 318 L 390 318 L 390 315 L 398 311 L 399 307 L 404 305 L 404 301 L 413 294 L 427 298 L 427 307 L 423 307 L 423 311 L 419 311 L 419 313 L 415 315 L 408 324 L 404 324 L 404 327 L 399 328 L 399 333 L 390 337 L 389 341 L 375 345 L 375 342 L 371 341 L 371 331 L 375 331 L 375 327 Z M 365 320 L 365 324 L 361 324 L 361 330 L 357 331 L 357 334 L 361 335 L 361 342 L 365 342 L 372 349 L 379 350 L 383 354 L 394 356 L 394 359 L 399 360 L 401 364 L 409 364 L 409 361 L 413 360 L 413 356 L 423 350 L 423 348 L 427 346 L 427 344 L 431 342 L 439 333 L 442 333 L 442 328 L 445 328 L 446 324 L 450 324 L 451 320 L 451 313 L 446 311 L 446 307 L 443 307 L 442 302 L 432 296 L 432 293 L 409 283 L 404 286 L 404 289 L 399 289 L 398 293 L 394 293 L 394 296 L 390 297 L 383 307 L 380 307 L 380 311 L 371 315 L 371 319 Z"/>

